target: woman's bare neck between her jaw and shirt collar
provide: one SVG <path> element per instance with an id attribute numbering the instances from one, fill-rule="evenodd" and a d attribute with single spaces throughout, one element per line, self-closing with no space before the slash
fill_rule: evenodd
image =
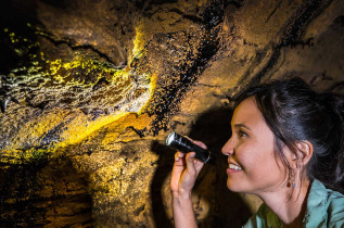
<path id="1" fill-rule="evenodd" d="M 282 220 L 285 227 L 301 227 L 307 207 L 309 180 L 296 188 L 282 187 L 278 191 L 258 193 L 258 197 Z"/>

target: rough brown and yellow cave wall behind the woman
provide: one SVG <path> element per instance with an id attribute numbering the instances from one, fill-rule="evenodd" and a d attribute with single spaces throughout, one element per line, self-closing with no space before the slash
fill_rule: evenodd
<path id="1" fill-rule="evenodd" d="M 220 149 L 232 98 L 301 76 L 344 92 L 344 3 L 5 0 L 0 226 L 171 227 L 171 130 L 217 153 L 194 188 L 200 227 L 240 227 Z"/>

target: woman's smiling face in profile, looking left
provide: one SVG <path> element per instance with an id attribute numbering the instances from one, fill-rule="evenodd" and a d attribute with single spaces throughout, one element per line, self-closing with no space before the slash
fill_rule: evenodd
<path id="1" fill-rule="evenodd" d="M 285 181 L 285 170 L 275 155 L 273 134 L 254 98 L 239 104 L 231 128 L 232 136 L 222 148 L 229 163 L 228 188 L 258 195 L 280 189 Z"/>

